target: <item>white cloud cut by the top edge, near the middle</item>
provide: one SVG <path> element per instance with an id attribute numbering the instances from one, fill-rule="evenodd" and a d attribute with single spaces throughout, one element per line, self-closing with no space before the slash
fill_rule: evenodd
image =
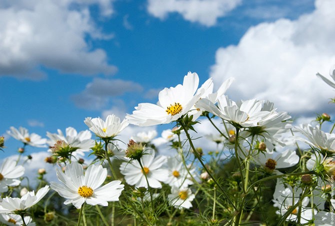
<path id="1" fill-rule="evenodd" d="M 147 11 L 160 19 L 179 13 L 185 20 L 212 26 L 218 17 L 241 3 L 241 0 L 148 0 Z"/>

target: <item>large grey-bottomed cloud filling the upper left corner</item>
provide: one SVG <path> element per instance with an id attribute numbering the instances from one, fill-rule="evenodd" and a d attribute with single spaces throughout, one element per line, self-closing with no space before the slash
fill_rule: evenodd
<path id="1" fill-rule="evenodd" d="M 41 79 L 41 67 L 63 73 L 113 74 L 104 50 L 92 49 L 90 39 L 110 39 L 90 15 L 98 5 L 109 16 L 110 0 L 2 0 L 0 2 L 0 76 Z"/>

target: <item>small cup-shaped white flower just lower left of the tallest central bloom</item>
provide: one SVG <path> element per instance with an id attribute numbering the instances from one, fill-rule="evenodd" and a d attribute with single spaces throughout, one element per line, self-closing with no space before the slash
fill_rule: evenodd
<path id="1" fill-rule="evenodd" d="M 113 114 L 108 115 L 106 121 L 100 118 L 87 117 L 84 123 L 90 131 L 100 138 L 113 138 L 129 125 L 128 120 L 124 119 L 121 122 L 120 118 Z"/>

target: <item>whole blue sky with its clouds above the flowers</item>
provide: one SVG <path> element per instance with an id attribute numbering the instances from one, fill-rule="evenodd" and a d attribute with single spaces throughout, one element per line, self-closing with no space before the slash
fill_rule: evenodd
<path id="1" fill-rule="evenodd" d="M 1 1 L 0 134 L 23 126 L 45 137 L 87 129 L 88 116 L 123 118 L 188 71 L 200 83 L 212 77 L 216 88 L 235 77 L 227 92 L 234 100 L 269 99 L 293 116 L 334 114 L 333 90 L 315 76 L 328 76 L 335 63 L 334 7 L 333 0 Z M 3 155 L 15 154 L 20 144 L 6 138 Z"/>

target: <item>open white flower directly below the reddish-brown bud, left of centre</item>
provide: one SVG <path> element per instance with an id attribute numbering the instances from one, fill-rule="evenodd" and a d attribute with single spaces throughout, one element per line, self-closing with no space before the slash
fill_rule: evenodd
<path id="1" fill-rule="evenodd" d="M 166 163 L 165 156 L 154 157 L 154 150 L 145 150 L 144 155 L 140 159 L 144 172 L 142 171 L 138 161 L 122 163 L 120 172 L 124 175 L 124 179 L 128 185 L 134 185 L 136 188 L 147 188 L 148 180 L 150 188 L 161 188 L 160 182 L 165 182 L 168 171 L 163 168 Z M 144 176 L 145 175 L 145 176 Z"/>

